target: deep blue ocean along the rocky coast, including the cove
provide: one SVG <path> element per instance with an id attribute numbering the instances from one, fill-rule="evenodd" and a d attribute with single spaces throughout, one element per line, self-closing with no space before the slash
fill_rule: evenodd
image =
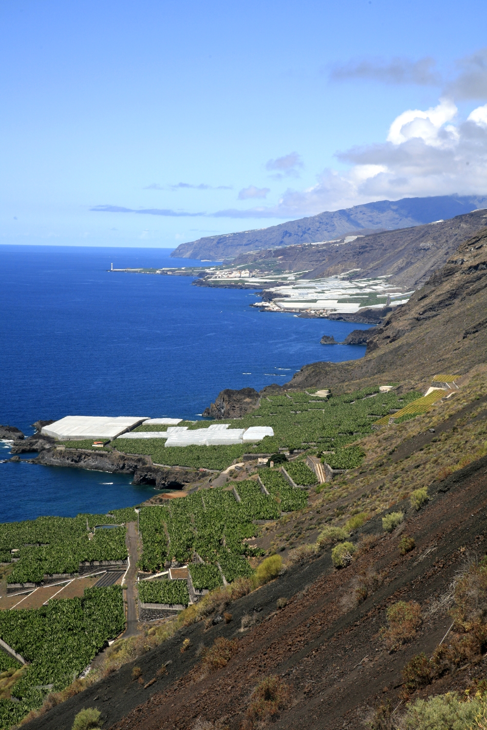
<path id="1" fill-rule="evenodd" d="M 357 325 L 259 312 L 255 294 L 191 277 L 107 271 L 198 264 L 170 251 L 0 245 L 0 423 L 28 436 L 35 420 L 65 415 L 194 420 L 223 388 L 282 385 L 304 364 L 364 355 L 320 344 Z M 0 522 L 107 512 L 153 493 L 130 476 L 0 464 Z"/>

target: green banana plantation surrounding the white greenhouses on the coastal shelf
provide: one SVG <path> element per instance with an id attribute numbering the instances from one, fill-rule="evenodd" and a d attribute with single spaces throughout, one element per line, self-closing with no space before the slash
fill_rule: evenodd
<path id="1" fill-rule="evenodd" d="M 112 447 L 122 453 L 147 454 L 156 464 L 225 469 L 243 453 L 277 453 L 279 448 L 303 448 L 316 445 L 323 450 L 336 450 L 372 433 L 372 423 L 390 410 L 401 409 L 421 398 L 418 391 L 401 396 L 394 391 L 379 393 L 379 386 L 354 393 L 320 398 L 308 393 L 293 392 L 287 396 L 266 396 L 258 409 L 244 418 L 221 420 L 231 429 L 250 426 L 272 426 L 273 437 L 265 437 L 256 445 L 173 446 L 165 447 L 164 439 L 115 439 Z M 188 428 L 205 429 L 207 421 L 185 423 Z M 158 426 L 164 431 L 164 427 Z M 137 431 L 153 431 L 154 426 L 139 426 Z M 340 467 L 342 468 L 342 467 Z M 347 467 L 348 468 L 348 467 Z"/>

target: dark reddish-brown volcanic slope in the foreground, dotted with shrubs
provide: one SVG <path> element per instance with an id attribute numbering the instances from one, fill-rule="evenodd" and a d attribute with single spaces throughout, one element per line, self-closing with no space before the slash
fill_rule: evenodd
<path id="1" fill-rule="evenodd" d="M 382 699 L 389 699 L 393 707 L 399 703 L 404 664 L 421 651 L 431 656 L 450 626 L 450 616 L 445 610 L 433 610 L 433 602 L 448 591 L 461 567 L 462 551 L 480 555 L 487 548 L 486 467 L 483 458 L 431 485 L 432 501 L 421 512 L 408 501 L 398 503 L 406 512 L 404 529 L 416 543 L 406 556 L 398 549 L 401 530 L 384 534 L 377 516 L 364 526 L 367 534 L 380 536 L 375 548 L 347 569 L 333 570 L 329 553 L 295 566 L 234 602 L 228 625 L 205 630 L 200 622 L 183 629 L 27 727 L 69 730 L 82 707 L 98 707 L 104 727 L 114 730 L 192 730 L 197 718 L 210 723 L 221 718 L 223 726 L 238 730 L 251 691 L 269 674 L 284 677 L 292 691 L 292 707 L 281 714 L 276 729 L 362 727 L 369 707 Z M 353 607 L 356 580 L 371 563 L 383 575 L 383 585 Z M 276 610 L 282 596 L 288 605 Z M 410 644 L 391 654 L 379 630 L 386 623 L 386 608 L 400 599 L 421 604 L 423 626 Z M 246 613 L 256 625 L 239 631 Z M 191 643 L 182 654 L 185 637 Z M 211 646 L 216 637 L 237 639 L 237 654 L 223 669 L 202 675 L 197 666 L 199 647 Z M 150 686 L 131 679 L 134 664 L 140 666 L 147 684 L 166 661 L 172 662 L 168 673 Z M 467 664 L 453 677 L 446 675 L 429 691 L 440 694 L 452 683 L 466 685 L 469 677 L 483 676 L 487 661 L 485 657 L 480 661 L 473 670 Z"/>

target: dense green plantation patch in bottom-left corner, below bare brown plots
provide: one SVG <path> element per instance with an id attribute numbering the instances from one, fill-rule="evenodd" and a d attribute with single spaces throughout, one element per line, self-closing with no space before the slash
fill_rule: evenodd
<path id="1" fill-rule="evenodd" d="M 125 626 L 122 589 L 85 588 L 83 598 L 50 601 L 33 610 L 0 611 L 0 637 L 27 661 L 20 680 L 0 699 L 0 730 L 39 707 L 47 685 L 60 691 Z"/>

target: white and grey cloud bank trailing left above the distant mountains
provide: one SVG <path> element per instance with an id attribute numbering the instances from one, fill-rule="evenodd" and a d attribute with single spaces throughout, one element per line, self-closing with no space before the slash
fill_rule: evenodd
<path id="1" fill-rule="evenodd" d="M 230 208 L 211 213 L 141 209 L 102 205 L 91 210 L 145 215 L 208 218 L 301 218 L 370 201 L 434 195 L 487 194 L 487 104 L 475 107 L 467 119 L 458 118 L 456 105 L 442 98 L 427 110 L 406 110 L 396 117 L 383 142 L 337 153 L 345 172 L 325 169 L 315 185 L 288 188 L 274 206 Z M 274 160 L 270 169 L 296 169 L 297 153 Z M 287 165 L 287 166 L 286 166 Z M 282 173 L 284 174 L 284 173 Z M 250 186 L 239 199 L 264 197 Z M 258 193 L 258 194 L 257 194 Z"/>

